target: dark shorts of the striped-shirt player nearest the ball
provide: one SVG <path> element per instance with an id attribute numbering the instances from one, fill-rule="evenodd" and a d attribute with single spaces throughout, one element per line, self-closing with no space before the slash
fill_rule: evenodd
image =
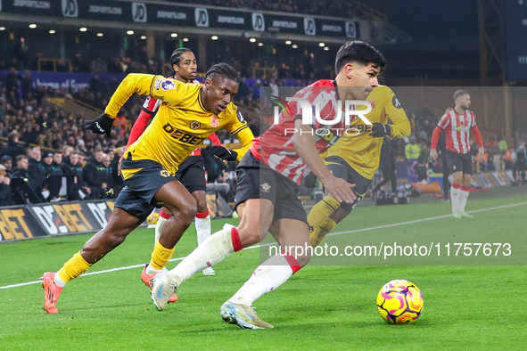
<path id="1" fill-rule="evenodd" d="M 235 206 L 251 199 L 267 199 L 273 202 L 273 222 L 290 218 L 308 223 L 306 210 L 299 198 L 300 187 L 291 179 L 271 169 L 248 151 L 238 167 L 238 188 Z"/>

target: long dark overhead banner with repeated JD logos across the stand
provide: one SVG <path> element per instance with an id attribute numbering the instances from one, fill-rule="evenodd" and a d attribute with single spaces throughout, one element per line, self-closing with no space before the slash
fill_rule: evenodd
<path id="1" fill-rule="evenodd" d="M 360 38 L 359 22 L 280 15 L 239 9 L 182 6 L 177 4 L 128 3 L 108 0 L 4 0 L 0 12 L 33 14 L 79 20 L 126 21 L 177 27 L 239 29 L 245 31 L 289 33 L 301 36 Z"/>

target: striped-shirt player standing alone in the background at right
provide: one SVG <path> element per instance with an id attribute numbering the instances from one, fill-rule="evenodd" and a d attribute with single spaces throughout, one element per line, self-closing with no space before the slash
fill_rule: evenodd
<path id="1" fill-rule="evenodd" d="M 433 130 L 430 157 L 433 160 L 437 159 L 437 143 L 441 132 L 444 131 L 447 143 L 447 160 L 452 174 L 450 186 L 452 216 L 455 218 L 471 218 L 473 216 L 465 212 L 473 174 L 470 131 L 472 130 L 474 141 L 478 144 L 480 159 L 483 159 L 484 153 L 483 139 L 480 129 L 476 125 L 476 115 L 473 111 L 468 110 L 470 94 L 465 90 L 457 90 L 454 93 L 454 102 L 456 102 L 454 110 L 446 112 Z"/>

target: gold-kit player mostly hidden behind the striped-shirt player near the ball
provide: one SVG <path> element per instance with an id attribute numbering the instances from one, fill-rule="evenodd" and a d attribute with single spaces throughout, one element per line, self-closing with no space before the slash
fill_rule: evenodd
<path id="1" fill-rule="evenodd" d="M 354 118 L 348 132 L 327 151 L 324 160 L 333 175 L 355 184 L 353 191 L 357 199 L 341 204 L 331 193 L 326 193 L 324 199 L 311 208 L 308 223 L 312 247 L 320 245 L 325 235 L 348 216 L 366 194 L 379 167 L 383 138 L 401 138 L 411 133 L 407 115 L 388 86 L 376 86 L 366 101 L 372 105 L 371 112 L 365 115 L 372 125 Z M 393 124 L 388 124 L 389 118 Z"/>

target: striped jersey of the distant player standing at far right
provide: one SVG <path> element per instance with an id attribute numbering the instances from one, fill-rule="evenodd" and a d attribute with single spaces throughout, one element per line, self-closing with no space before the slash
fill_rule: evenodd
<path id="1" fill-rule="evenodd" d="M 458 114 L 456 110 L 445 113 L 437 126 L 445 131 L 447 150 L 468 153 L 471 149 L 470 130 L 476 127 L 476 115 L 471 110 Z"/>

